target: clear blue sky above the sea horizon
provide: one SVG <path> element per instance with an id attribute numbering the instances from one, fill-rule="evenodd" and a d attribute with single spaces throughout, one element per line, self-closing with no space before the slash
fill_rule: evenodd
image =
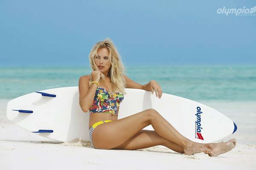
<path id="1" fill-rule="evenodd" d="M 0 66 L 88 65 L 107 37 L 126 65 L 256 64 L 256 15 L 224 6 L 256 2 L 1 0 Z"/>

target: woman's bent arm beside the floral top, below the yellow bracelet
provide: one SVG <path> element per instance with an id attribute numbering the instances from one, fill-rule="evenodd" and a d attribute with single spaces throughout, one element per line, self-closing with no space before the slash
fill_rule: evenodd
<path id="1" fill-rule="evenodd" d="M 93 104 L 93 99 L 96 93 L 97 84 L 93 83 L 89 87 L 91 75 L 82 76 L 79 79 L 79 105 L 85 113 Z"/>

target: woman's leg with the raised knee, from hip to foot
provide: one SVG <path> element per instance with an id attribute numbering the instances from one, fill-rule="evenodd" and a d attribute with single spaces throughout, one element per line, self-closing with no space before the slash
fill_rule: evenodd
<path id="1" fill-rule="evenodd" d="M 200 152 L 211 153 L 207 147 L 182 136 L 154 109 L 148 109 L 117 121 L 99 125 L 93 131 L 93 144 L 99 149 L 117 147 L 148 125 L 152 125 L 157 134 L 163 138 L 183 147 L 184 153 L 187 155 Z"/>

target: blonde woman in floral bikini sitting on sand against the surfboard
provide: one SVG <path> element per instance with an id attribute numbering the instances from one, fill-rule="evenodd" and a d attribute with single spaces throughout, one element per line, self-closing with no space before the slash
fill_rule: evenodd
<path id="1" fill-rule="evenodd" d="M 204 152 L 218 156 L 235 147 L 236 139 L 209 144 L 192 142 L 154 109 L 117 119 L 124 88 L 155 92 L 159 99 L 162 89 L 154 80 L 140 85 L 125 76 L 119 53 L 110 39 L 97 42 L 89 59 L 93 72 L 79 79 L 79 104 L 85 113 L 90 111 L 89 135 L 94 148 L 135 150 L 163 145 L 186 155 Z M 143 130 L 148 125 L 154 130 Z"/>

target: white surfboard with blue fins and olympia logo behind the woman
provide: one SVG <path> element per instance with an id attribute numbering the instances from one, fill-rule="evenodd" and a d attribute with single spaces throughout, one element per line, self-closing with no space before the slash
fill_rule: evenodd
<path id="1" fill-rule="evenodd" d="M 144 111 L 157 110 L 183 136 L 200 143 L 218 141 L 237 129 L 224 114 L 201 103 L 163 94 L 158 99 L 150 91 L 125 89 L 119 118 Z M 8 102 L 7 119 L 38 135 L 61 142 L 90 140 L 89 112 L 79 105 L 78 87 L 53 88 L 17 97 Z M 150 125 L 147 130 L 154 130 Z"/>

